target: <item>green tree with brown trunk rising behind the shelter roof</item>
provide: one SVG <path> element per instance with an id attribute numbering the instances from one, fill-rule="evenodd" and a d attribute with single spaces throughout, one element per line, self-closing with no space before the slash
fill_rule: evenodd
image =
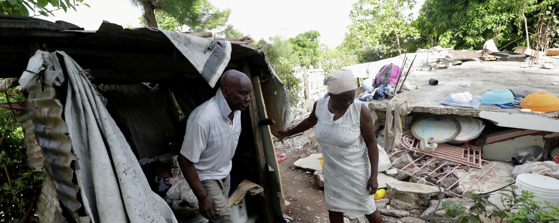
<path id="1" fill-rule="evenodd" d="M 158 27 L 156 11 L 167 13 L 168 17 L 176 18 L 182 26 L 191 31 L 203 32 L 225 26 L 229 20 L 231 9 L 220 10 L 208 0 L 130 0 L 144 11 L 144 20 L 148 27 Z"/>

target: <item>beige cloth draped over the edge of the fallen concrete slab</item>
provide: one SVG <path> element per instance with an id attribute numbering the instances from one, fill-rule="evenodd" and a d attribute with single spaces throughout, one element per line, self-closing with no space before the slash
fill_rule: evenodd
<path id="1" fill-rule="evenodd" d="M 384 148 L 391 151 L 400 150 L 402 123 L 400 116 L 409 115 L 413 106 L 411 99 L 404 93 L 396 94 L 386 105 L 386 126 L 384 129 Z"/>

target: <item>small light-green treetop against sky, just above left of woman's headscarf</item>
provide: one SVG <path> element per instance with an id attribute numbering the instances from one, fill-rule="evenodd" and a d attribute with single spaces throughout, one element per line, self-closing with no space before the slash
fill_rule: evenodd
<path id="1" fill-rule="evenodd" d="M 311 30 L 289 38 L 289 42 L 293 46 L 293 52 L 299 55 L 301 65 L 312 64 L 317 67 L 322 54 L 322 51 L 319 48 L 319 37 L 320 32 Z"/>

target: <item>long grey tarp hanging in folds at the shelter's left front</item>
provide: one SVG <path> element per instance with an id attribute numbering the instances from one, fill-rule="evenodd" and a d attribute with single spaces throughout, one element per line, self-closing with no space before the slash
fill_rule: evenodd
<path id="1" fill-rule="evenodd" d="M 32 58 L 28 67 L 50 70 L 60 67 L 58 59 L 54 59 L 56 56 L 64 60 L 65 72 L 68 74 L 67 98 L 64 105 L 65 124 L 68 126 L 66 134 L 72 140 L 72 148 L 78 158 L 74 162 L 75 173 L 82 203 L 91 221 L 177 222 L 167 203 L 149 188 L 138 160 L 109 115 L 100 94 L 87 79 L 86 72 L 62 51 L 49 54 L 39 50 L 36 55 L 41 54 L 51 55 L 51 60 Z M 48 88 L 52 88 L 50 83 L 54 80 L 53 75 L 56 77 L 57 74 L 23 73 L 20 79 L 22 86 L 36 87 L 29 89 L 36 94 L 30 94 L 29 99 L 32 103 L 36 99 L 34 96 L 40 96 L 51 90 Z M 37 87 L 37 84 L 45 91 L 41 91 L 41 87 Z M 40 112 L 37 116 L 41 116 Z M 56 139 L 42 139 L 44 136 L 39 135 L 35 119 L 33 121 L 41 148 L 45 150 L 43 146 L 58 142 Z M 48 136 L 49 131 L 46 131 L 45 135 Z M 53 160 L 45 156 L 45 165 L 48 166 L 51 162 Z M 67 180 L 71 181 L 71 179 L 70 175 Z M 56 188 L 59 196 L 60 191 Z M 77 211 L 77 209 L 70 210 Z"/>

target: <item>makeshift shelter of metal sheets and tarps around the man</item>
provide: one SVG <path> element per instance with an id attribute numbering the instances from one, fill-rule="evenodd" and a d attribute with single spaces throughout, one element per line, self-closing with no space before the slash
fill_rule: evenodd
<path id="1" fill-rule="evenodd" d="M 22 110 L 18 120 L 34 137 L 26 145 L 36 140 L 44 159 L 41 222 L 182 222 L 181 208 L 151 191 L 138 160 L 178 153 L 179 112 L 188 117 L 214 96 L 228 69 L 253 84 L 231 174 L 263 188 L 247 199 L 249 213 L 285 222 L 272 132 L 285 125 L 286 90 L 263 51 L 246 43 L 0 16 L 0 78 L 10 78 L 0 86 L 22 85 L 28 102 L 9 107 Z"/>

